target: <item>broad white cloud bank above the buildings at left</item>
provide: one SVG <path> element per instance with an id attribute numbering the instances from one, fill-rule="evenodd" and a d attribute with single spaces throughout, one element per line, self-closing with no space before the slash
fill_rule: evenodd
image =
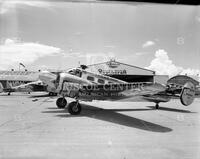
<path id="1" fill-rule="evenodd" d="M 31 64 L 41 57 L 62 54 L 60 48 L 33 42 L 6 39 L 0 45 L 0 69 L 19 64 Z"/>

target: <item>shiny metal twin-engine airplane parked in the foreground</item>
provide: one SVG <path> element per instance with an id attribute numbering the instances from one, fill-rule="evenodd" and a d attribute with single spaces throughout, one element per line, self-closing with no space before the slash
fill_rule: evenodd
<path id="1" fill-rule="evenodd" d="M 41 74 L 39 78 L 61 96 L 56 101 L 58 108 L 67 106 L 65 97 L 75 99 L 67 106 L 72 115 L 80 114 L 82 108 L 79 101 L 149 101 L 154 102 L 158 109 L 160 102 L 168 102 L 178 97 L 183 105 L 188 106 L 195 98 L 196 89 L 186 77 L 183 78 L 184 85 L 177 83 L 162 85 L 153 82 L 127 83 L 116 78 L 87 72 L 81 68 L 60 73 L 56 79 L 52 79 L 49 72 Z"/>

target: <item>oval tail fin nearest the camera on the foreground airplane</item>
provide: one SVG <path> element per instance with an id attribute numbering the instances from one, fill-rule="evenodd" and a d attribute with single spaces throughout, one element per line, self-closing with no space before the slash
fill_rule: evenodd
<path id="1" fill-rule="evenodd" d="M 184 84 L 181 91 L 180 100 L 181 103 L 185 106 L 188 106 L 193 103 L 195 98 L 195 86 L 192 82 L 187 82 Z"/>

